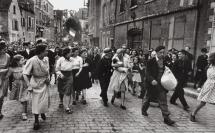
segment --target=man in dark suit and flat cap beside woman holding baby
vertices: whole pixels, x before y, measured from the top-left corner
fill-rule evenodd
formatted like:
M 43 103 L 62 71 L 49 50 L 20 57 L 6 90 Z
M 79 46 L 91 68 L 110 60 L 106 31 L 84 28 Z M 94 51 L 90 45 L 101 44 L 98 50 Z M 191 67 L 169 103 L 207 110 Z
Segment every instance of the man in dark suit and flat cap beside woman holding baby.
M 104 102 L 104 106 L 108 106 L 108 97 L 107 91 L 110 83 L 110 78 L 112 76 L 112 49 L 105 48 L 104 56 L 101 58 L 97 68 L 97 75 L 101 86 L 101 94 L 102 100 Z

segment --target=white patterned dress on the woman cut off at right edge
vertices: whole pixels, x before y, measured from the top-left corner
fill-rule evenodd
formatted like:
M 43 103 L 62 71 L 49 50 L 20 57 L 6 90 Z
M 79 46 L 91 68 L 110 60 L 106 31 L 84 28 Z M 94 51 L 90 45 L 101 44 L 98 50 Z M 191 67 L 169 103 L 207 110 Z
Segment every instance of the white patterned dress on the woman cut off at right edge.
M 215 66 L 210 66 L 207 70 L 207 80 L 204 83 L 198 100 L 215 103 Z

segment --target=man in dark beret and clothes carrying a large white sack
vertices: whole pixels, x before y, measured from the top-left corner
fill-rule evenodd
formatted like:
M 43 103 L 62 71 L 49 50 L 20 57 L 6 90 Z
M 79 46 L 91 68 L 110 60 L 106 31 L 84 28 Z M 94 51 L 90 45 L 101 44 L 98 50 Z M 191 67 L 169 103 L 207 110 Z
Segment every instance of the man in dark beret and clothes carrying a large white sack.
M 164 61 L 164 46 L 158 46 L 155 49 L 157 53 L 156 58 L 151 58 L 146 66 L 146 97 L 142 106 L 142 115 L 148 116 L 147 110 L 150 105 L 150 101 L 157 97 L 159 107 L 161 109 L 164 123 L 167 125 L 173 125 L 175 122 L 169 118 L 170 112 L 167 105 L 167 90 L 161 85 L 161 77 L 165 69 Z

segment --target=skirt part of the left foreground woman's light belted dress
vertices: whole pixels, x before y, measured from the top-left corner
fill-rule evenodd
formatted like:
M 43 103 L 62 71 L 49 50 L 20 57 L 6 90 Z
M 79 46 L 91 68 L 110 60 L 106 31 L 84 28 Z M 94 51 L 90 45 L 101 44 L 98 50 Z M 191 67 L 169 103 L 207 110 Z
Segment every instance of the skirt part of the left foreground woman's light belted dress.
M 45 85 L 43 91 L 32 93 L 32 113 L 42 114 L 48 112 L 49 107 L 49 90 Z

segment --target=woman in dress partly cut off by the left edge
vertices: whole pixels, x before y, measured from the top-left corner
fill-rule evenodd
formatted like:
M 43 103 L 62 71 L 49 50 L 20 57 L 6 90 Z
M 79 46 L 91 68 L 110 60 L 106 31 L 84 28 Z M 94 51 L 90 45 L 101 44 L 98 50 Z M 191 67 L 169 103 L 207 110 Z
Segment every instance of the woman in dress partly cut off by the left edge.
M 8 66 L 10 62 L 10 56 L 6 53 L 5 42 L 0 42 L 0 120 L 4 117 L 1 113 L 4 97 L 7 96 L 7 89 L 9 79 L 6 78 L 8 72 Z

